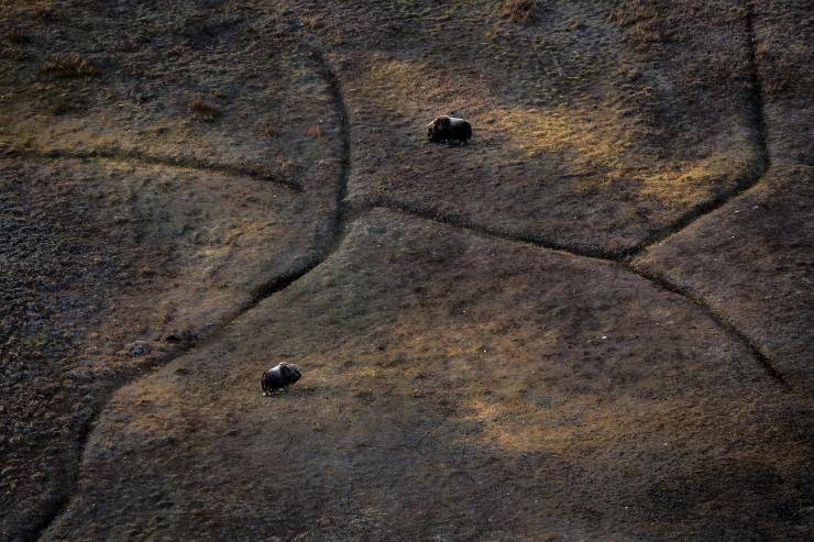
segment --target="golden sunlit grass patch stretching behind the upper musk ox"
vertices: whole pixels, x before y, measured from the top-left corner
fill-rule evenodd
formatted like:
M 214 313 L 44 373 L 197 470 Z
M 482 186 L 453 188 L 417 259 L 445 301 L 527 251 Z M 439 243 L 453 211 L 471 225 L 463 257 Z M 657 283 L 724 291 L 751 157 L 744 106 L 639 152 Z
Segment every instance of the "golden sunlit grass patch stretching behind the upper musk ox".
M 641 79 L 637 71 L 631 74 L 628 80 Z M 484 172 L 509 164 L 540 164 L 553 172 L 550 180 L 558 179 L 561 189 L 574 195 L 610 191 L 622 184 L 642 199 L 688 208 L 737 182 L 758 161 L 756 135 L 740 117 L 729 120 L 728 131 L 701 139 L 686 152 L 648 139 L 651 113 L 631 110 L 627 101 L 618 100 L 612 81 L 606 98 L 598 95 L 531 108 L 491 96 L 485 86 L 468 86 L 462 92 L 457 84 L 465 80 L 464 74 L 426 63 L 374 59 L 353 89 L 388 118 L 415 124 L 417 132 L 435 114 L 463 110 L 474 128 L 473 145 L 479 146 L 472 159 L 481 161 Z M 650 99 L 652 89 L 642 88 Z M 658 158 L 653 150 L 659 150 Z

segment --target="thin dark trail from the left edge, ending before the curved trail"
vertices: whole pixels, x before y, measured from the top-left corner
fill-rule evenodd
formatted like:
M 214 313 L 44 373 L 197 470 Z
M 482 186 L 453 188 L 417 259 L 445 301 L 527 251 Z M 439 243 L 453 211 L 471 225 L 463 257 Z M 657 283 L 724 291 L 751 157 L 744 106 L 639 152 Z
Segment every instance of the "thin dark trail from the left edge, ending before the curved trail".
M 6 150 L 0 148 L 0 156 L 20 157 L 29 159 L 54 159 L 54 158 L 68 158 L 79 161 L 90 159 L 108 159 L 112 162 L 122 162 L 125 164 L 150 164 L 155 166 L 165 167 L 177 167 L 182 169 L 193 169 L 200 173 L 220 173 L 234 177 L 248 177 L 253 180 L 261 180 L 267 182 L 275 182 L 277 185 L 289 188 L 296 192 L 302 191 L 302 186 L 299 182 L 288 180 L 282 177 L 275 177 L 267 172 L 253 168 L 242 168 L 237 166 L 228 166 L 223 164 L 213 164 L 206 161 L 196 158 L 175 158 L 167 156 L 152 156 L 144 154 L 138 150 L 114 150 L 114 148 L 100 148 L 94 151 L 64 151 L 59 148 L 53 148 L 47 151 L 33 151 L 33 150 Z

